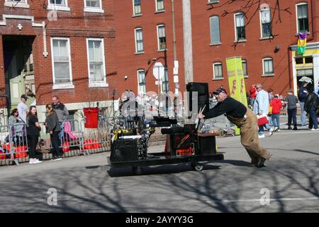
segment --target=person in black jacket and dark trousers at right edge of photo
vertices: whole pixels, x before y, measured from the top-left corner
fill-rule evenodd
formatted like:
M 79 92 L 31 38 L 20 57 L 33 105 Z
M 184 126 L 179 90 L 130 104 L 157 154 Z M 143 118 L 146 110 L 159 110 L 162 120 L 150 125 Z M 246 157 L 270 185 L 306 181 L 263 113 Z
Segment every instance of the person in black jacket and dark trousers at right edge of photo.
M 318 131 L 318 120 L 316 118 L 315 112 L 318 110 L 319 107 L 319 100 L 318 96 L 315 92 L 311 92 L 306 97 L 305 101 L 305 110 L 309 114 L 309 130 Z

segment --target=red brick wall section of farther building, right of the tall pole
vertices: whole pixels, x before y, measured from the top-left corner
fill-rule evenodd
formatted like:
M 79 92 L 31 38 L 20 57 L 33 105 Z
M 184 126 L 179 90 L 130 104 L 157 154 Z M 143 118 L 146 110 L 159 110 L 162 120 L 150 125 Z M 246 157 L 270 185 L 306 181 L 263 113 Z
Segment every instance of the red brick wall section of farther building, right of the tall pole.
M 300 1 L 280 1 L 281 10 L 288 9 L 291 12 L 281 11 L 281 23 L 276 23 L 279 19 L 278 11 L 276 11 L 273 23 L 273 34 L 278 35 L 272 40 L 259 40 L 260 19 L 259 11 L 252 16 L 256 6 L 247 13 L 247 21 L 252 18 L 246 27 L 247 42 L 238 43 L 236 48 L 234 45 L 235 28 L 234 13 L 222 16 L 224 11 L 235 12 L 244 6 L 244 1 L 235 1 L 233 4 L 225 4 L 218 8 L 225 1 L 220 0 L 220 4 L 214 9 L 208 10 L 211 6 L 203 1 L 191 1 L 192 9 L 192 33 L 193 33 L 193 52 L 194 52 L 194 79 L 202 82 L 209 82 L 211 90 L 216 89 L 219 84 L 225 84 L 228 89 L 228 77 L 226 70 L 226 57 L 240 56 L 247 60 L 247 73 L 249 79 L 245 79 L 246 90 L 252 84 L 262 83 L 265 89 L 274 89 L 274 94 L 286 94 L 286 89 L 293 87 L 291 69 L 291 53 L 289 45 L 296 45 L 296 3 Z M 273 17 L 276 0 L 267 1 L 271 7 L 271 15 Z M 307 2 L 307 1 L 306 1 Z M 309 24 L 311 31 L 311 7 L 308 1 Z M 211 16 L 220 16 L 220 40 L 221 45 L 210 46 L 210 28 L 209 18 Z M 197 26 L 201 24 L 201 26 Z M 308 39 L 312 38 L 312 33 Z M 280 46 L 278 52 L 274 52 L 276 45 Z M 274 60 L 274 77 L 262 77 L 262 58 L 273 57 Z M 223 80 L 213 81 L 213 62 L 223 62 Z M 289 74 L 290 77 L 289 77 Z M 289 78 L 291 80 L 289 84 Z M 229 89 L 228 89 L 229 90 Z

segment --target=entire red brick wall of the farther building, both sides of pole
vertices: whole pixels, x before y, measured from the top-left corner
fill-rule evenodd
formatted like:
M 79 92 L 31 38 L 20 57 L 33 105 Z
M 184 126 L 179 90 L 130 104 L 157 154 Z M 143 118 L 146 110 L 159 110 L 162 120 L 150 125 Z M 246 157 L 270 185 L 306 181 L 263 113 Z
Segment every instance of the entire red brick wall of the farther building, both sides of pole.
M 216 89 L 218 85 L 224 84 L 228 89 L 228 77 L 226 71 L 226 57 L 240 56 L 247 60 L 248 79 L 245 79 L 246 89 L 252 84 L 262 83 L 265 89 L 274 89 L 274 94 L 286 94 L 286 89 L 293 87 L 291 52 L 289 45 L 296 45 L 296 4 L 299 2 L 308 2 L 310 35 L 308 40 L 312 40 L 312 13 L 311 2 L 313 1 L 280 1 L 281 23 L 277 22 L 279 13 L 274 15 L 273 34 L 276 34 L 272 40 L 259 40 L 260 22 L 259 11 L 255 16 L 253 6 L 247 13 L 246 23 L 252 17 L 252 21 L 247 25 L 247 42 L 238 43 L 233 47 L 235 40 L 234 12 L 241 8 L 247 1 L 234 1 L 232 4 L 225 4 L 228 1 L 220 0 L 219 4 L 213 4 L 214 9 L 207 4 L 207 0 L 191 1 L 191 23 L 192 23 L 192 43 L 193 43 L 193 62 L 194 62 L 194 82 L 208 82 L 210 90 Z M 159 57 L 162 52 L 157 52 L 157 33 L 156 25 L 165 23 L 167 28 L 167 62 L 172 62 L 172 12 L 171 2 L 165 1 L 165 12 L 155 13 L 155 1 L 141 1 L 142 16 L 133 17 L 132 1 L 114 2 L 114 18 L 116 26 L 116 54 L 118 59 L 118 79 L 119 90 L 133 89 L 137 92 L 138 79 L 136 70 L 148 69 L 147 60 L 152 57 Z M 263 2 L 262 2 L 263 3 Z M 271 6 L 271 15 L 273 17 L 276 0 L 269 0 L 267 3 Z M 318 4 L 318 3 L 317 3 Z M 218 6 L 223 7 L 218 8 Z M 217 6 L 217 7 L 216 7 Z M 313 6 L 315 7 L 315 6 Z M 176 29 L 177 29 L 177 58 L 179 60 L 179 79 L 181 88 L 184 84 L 184 55 L 183 55 L 183 24 L 181 1 L 175 1 L 176 8 Z M 318 8 L 318 6 L 317 6 Z M 288 9 L 290 13 L 283 11 Z M 232 12 L 222 17 L 224 11 Z M 317 10 L 314 10 L 318 12 Z M 220 16 L 220 36 L 221 45 L 210 45 L 210 16 Z M 315 25 L 318 37 L 318 23 Z M 143 40 L 145 54 L 135 55 L 134 28 L 141 27 L 143 30 Z M 318 38 L 312 41 L 318 41 Z M 274 52 L 276 45 L 280 46 L 278 52 Z M 273 57 L 274 59 L 274 77 L 262 77 L 262 58 Z M 213 62 L 223 62 L 223 80 L 213 81 Z M 169 89 L 174 91 L 172 63 L 169 63 Z M 124 80 L 128 75 L 129 79 Z M 152 67 L 147 77 L 147 91 L 157 91 L 155 79 L 152 77 Z

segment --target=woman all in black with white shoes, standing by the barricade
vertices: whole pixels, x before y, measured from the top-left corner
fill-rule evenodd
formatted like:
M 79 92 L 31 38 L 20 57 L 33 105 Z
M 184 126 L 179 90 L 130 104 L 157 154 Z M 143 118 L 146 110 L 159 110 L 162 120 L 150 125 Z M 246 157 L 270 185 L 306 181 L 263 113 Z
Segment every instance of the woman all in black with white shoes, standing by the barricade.
M 28 138 L 28 150 L 29 150 L 29 163 L 38 164 L 42 161 L 35 158 L 35 150 L 38 145 L 41 126 L 37 117 L 37 109 L 35 106 L 30 106 L 28 115 L 26 116 L 27 124 L 27 138 Z

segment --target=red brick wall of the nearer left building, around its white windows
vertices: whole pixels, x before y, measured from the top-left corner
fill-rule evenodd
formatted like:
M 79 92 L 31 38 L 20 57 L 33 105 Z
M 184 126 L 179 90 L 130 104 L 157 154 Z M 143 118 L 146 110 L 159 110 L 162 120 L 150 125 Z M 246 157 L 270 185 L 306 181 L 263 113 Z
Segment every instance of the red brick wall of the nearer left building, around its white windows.
M 44 1 L 47 4 L 47 1 Z M 0 26 L 2 35 L 35 35 L 33 58 L 37 104 L 47 104 L 52 95 L 60 96 L 64 103 L 110 100 L 109 91 L 116 89 L 117 72 L 115 61 L 115 30 L 113 23 L 113 0 L 102 0 L 104 13 L 84 12 L 84 1 L 69 0 L 71 11 L 58 11 L 57 21 L 47 21 L 47 12 L 43 1 L 28 1 L 30 9 L 11 9 L 0 4 L 0 14 L 34 16 L 35 23 L 47 23 L 47 52 L 43 57 L 43 29 L 34 28 L 30 21 L 7 20 L 6 26 Z M 18 31 L 17 23 L 23 25 Z M 74 89 L 52 90 L 51 37 L 68 37 L 70 40 L 72 79 Z M 106 82 L 108 88 L 89 88 L 86 38 L 103 38 L 106 59 Z M 2 49 L 2 47 L 1 47 Z M 3 64 L 3 52 L 0 52 L 0 64 Z M 0 71 L 0 85 L 4 84 L 4 70 Z

